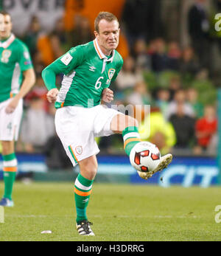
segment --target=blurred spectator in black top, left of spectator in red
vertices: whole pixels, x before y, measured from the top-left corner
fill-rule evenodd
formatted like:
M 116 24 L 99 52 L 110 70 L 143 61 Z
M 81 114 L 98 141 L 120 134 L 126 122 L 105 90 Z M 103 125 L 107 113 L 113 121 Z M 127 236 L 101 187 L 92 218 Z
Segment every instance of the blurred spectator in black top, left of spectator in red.
M 185 113 L 185 108 L 185 103 L 178 102 L 175 113 L 169 117 L 169 122 L 175 129 L 177 140 L 175 148 L 189 150 L 195 145 L 195 119 Z

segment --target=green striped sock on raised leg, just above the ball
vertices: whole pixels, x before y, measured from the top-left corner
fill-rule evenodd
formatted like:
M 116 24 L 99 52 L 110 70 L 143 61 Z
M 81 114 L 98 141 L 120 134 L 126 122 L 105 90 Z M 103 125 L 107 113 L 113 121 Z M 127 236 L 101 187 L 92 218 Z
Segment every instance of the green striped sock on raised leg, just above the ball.
M 130 156 L 132 148 L 138 142 L 141 142 L 138 128 L 136 126 L 128 126 L 124 131 L 122 131 L 122 136 L 124 139 L 124 151 L 127 153 L 127 156 Z

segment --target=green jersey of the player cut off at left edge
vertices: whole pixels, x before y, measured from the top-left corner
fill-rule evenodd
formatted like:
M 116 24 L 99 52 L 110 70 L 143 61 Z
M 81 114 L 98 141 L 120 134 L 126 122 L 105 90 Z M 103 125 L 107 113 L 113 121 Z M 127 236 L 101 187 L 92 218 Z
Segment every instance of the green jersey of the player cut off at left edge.
M 15 35 L 0 41 L 0 103 L 18 94 L 22 72 L 31 68 L 29 50 Z

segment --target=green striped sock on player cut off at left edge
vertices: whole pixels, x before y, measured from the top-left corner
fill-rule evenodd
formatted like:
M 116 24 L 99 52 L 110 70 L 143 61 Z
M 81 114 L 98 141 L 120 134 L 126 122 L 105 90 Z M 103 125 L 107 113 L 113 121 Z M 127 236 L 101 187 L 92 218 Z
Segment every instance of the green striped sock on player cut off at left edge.
M 2 155 L 3 157 L 3 179 L 4 179 L 4 198 L 12 200 L 13 184 L 17 172 L 17 159 L 15 153 Z

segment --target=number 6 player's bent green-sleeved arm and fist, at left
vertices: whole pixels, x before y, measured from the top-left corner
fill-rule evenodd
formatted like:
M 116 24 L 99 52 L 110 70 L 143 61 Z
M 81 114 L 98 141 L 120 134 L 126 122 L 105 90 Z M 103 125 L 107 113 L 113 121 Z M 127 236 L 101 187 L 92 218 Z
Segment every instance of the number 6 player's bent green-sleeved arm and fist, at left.
M 57 99 L 58 89 L 56 86 L 56 75 L 68 75 L 77 66 L 83 62 L 83 49 L 80 47 L 71 48 L 69 52 L 55 60 L 52 64 L 43 69 L 42 78 L 49 90 L 47 99 L 49 103 L 55 103 Z

